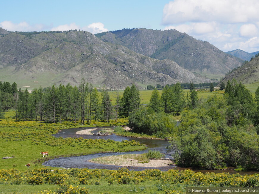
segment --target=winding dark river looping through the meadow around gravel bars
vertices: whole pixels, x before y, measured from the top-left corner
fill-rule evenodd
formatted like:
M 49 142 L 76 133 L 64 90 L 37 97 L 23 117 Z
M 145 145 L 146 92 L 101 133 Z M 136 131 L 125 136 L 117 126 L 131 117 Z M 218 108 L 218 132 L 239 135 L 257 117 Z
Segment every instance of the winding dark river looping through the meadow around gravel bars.
M 96 129 L 91 131 L 91 133 L 97 133 L 98 131 L 101 131 L 103 129 L 113 129 L 114 127 L 91 127 L 92 129 Z M 145 138 L 132 138 L 132 137 L 121 137 L 117 136 L 115 134 L 113 135 L 107 135 L 107 136 L 97 136 L 97 135 L 79 135 L 76 134 L 77 131 L 85 130 L 85 129 L 91 129 L 89 127 L 85 128 L 73 128 L 73 129 L 64 129 L 61 130 L 59 133 L 54 134 L 54 137 L 82 137 L 84 139 L 112 139 L 114 141 L 121 141 L 121 140 L 135 140 L 139 141 L 140 143 L 146 144 L 146 146 L 152 150 L 158 150 L 160 152 L 163 152 L 166 154 L 166 158 L 172 158 L 170 154 L 166 153 L 166 146 L 168 146 L 169 141 L 165 140 L 157 140 L 157 139 L 145 139 Z M 91 163 L 88 162 L 88 160 L 91 160 L 92 158 L 96 157 L 103 157 L 103 156 L 110 156 L 110 155 L 121 155 L 121 154 L 142 154 L 147 152 L 147 150 L 143 151 L 135 151 L 135 152 L 108 152 L 108 153 L 97 153 L 97 154 L 88 154 L 83 156 L 74 156 L 74 157 L 60 157 L 55 158 L 52 160 L 48 160 L 43 163 L 45 166 L 52 166 L 52 167 L 60 167 L 60 168 L 99 168 L 99 169 L 109 169 L 109 170 L 117 170 L 118 168 L 121 168 L 122 166 L 116 166 L 116 165 L 103 165 L 103 164 L 97 164 L 97 163 Z M 234 171 L 233 167 L 228 167 L 227 170 L 207 170 L 207 169 L 197 169 L 197 168 L 181 168 L 178 166 L 163 166 L 163 167 L 134 167 L 129 166 L 126 167 L 129 170 L 135 170 L 135 171 L 142 171 L 145 169 L 159 169 L 161 171 L 168 171 L 169 169 L 178 169 L 178 170 L 185 170 L 185 169 L 191 169 L 193 171 L 199 171 L 199 172 L 228 172 L 230 174 L 236 173 Z M 254 174 L 258 173 L 257 171 L 242 171 L 238 172 L 240 174 Z

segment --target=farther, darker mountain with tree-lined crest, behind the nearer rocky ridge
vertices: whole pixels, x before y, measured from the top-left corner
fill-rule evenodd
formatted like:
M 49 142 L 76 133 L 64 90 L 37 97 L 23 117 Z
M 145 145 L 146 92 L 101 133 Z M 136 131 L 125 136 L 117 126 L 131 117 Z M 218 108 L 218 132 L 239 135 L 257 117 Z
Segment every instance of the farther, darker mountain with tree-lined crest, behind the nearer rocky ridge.
M 96 36 L 155 59 L 173 60 L 191 72 L 224 75 L 242 64 L 242 60 L 209 42 L 196 40 L 177 30 L 122 29 Z

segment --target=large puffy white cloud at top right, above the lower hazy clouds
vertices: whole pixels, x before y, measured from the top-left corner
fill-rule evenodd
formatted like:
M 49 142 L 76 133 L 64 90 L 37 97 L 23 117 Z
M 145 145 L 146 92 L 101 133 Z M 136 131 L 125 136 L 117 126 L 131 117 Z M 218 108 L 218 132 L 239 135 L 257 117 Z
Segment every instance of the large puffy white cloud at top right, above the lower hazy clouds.
M 258 0 L 174 0 L 164 7 L 163 24 L 252 22 L 258 20 L 258 8 Z

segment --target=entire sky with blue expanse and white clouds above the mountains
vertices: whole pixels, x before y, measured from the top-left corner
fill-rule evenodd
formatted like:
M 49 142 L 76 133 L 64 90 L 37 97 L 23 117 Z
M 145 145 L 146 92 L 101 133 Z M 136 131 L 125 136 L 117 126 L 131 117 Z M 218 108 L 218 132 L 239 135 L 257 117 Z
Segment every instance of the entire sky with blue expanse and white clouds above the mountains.
M 259 51 L 258 0 L 8 0 L 0 27 L 8 31 L 123 28 L 176 29 L 220 50 Z

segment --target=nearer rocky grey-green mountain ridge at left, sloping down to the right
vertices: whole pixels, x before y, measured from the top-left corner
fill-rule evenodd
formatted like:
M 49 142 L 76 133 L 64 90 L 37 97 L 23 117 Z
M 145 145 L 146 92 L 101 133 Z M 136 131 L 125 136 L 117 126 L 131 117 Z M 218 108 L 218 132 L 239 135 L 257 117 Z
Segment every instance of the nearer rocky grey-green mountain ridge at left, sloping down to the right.
M 81 78 L 95 86 L 120 88 L 136 83 L 210 82 L 171 60 L 153 59 L 122 45 L 103 42 L 86 31 L 8 32 L 1 29 L 0 76 L 20 86 L 49 86 Z M 0 81 L 1 81 L 0 80 Z M 20 85 L 19 85 L 20 84 Z

